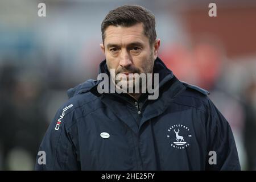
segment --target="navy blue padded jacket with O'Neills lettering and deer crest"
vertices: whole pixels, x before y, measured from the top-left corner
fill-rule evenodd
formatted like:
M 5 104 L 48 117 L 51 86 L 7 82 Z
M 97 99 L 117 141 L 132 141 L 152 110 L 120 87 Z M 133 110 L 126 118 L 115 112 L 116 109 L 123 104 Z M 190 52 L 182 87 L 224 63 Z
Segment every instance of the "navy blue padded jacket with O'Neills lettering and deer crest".
M 69 89 L 39 148 L 46 164 L 38 155 L 35 169 L 240 170 L 232 130 L 208 91 L 177 80 L 159 58 L 154 73 L 156 100 L 99 94 L 97 80 Z

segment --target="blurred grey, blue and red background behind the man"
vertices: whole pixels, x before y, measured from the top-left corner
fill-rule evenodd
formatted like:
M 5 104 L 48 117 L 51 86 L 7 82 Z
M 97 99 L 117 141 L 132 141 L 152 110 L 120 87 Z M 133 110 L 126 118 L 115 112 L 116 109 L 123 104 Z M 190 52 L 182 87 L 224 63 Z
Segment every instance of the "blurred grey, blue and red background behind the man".
M 38 3 L 46 3 L 46 17 Z M 209 17 L 210 2 L 217 17 Z M 243 170 L 256 169 L 256 1 L 1 0 L 0 169 L 32 170 L 66 91 L 96 78 L 101 22 L 137 4 L 156 18 L 159 57 L 210 91 L 232 127 Z

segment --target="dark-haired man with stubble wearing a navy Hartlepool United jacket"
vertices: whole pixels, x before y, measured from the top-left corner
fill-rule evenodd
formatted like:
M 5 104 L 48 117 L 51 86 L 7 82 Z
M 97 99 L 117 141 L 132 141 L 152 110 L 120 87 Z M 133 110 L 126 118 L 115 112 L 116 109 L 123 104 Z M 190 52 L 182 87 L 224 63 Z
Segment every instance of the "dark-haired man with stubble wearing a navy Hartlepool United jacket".
M 154 15 L 121 6 L 101 30 L 104 79 L 68 90 L 35 169 L 240 170 L 232 130 L 208 92 L 179 81 L 157 57 Z

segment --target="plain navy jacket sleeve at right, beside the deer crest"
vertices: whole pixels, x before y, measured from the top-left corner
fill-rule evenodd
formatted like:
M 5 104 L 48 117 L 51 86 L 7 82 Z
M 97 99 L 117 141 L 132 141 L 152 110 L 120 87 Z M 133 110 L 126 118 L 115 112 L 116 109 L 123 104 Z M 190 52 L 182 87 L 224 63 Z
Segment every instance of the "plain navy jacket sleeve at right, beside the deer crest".
M 208 100 L 208 156 L 207 170 L 241 170 L 236 143 L 228 121 Z M 214 160 L 216 155 L 216 160 Z

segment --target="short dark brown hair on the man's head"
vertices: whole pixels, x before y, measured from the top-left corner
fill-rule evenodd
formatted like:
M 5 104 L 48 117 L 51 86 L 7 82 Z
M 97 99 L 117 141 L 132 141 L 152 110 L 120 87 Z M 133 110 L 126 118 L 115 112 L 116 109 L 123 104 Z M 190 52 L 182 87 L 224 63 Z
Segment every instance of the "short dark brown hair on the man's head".
M 152 45 L 156 39 L 155 16 L 146 8 L 138 5 L 124 5 L 109 11 L 101 23 L 102 41 L 105 39 L 105 30 L 109 26 L 131 27 L 143 23 L 144 34 Z

